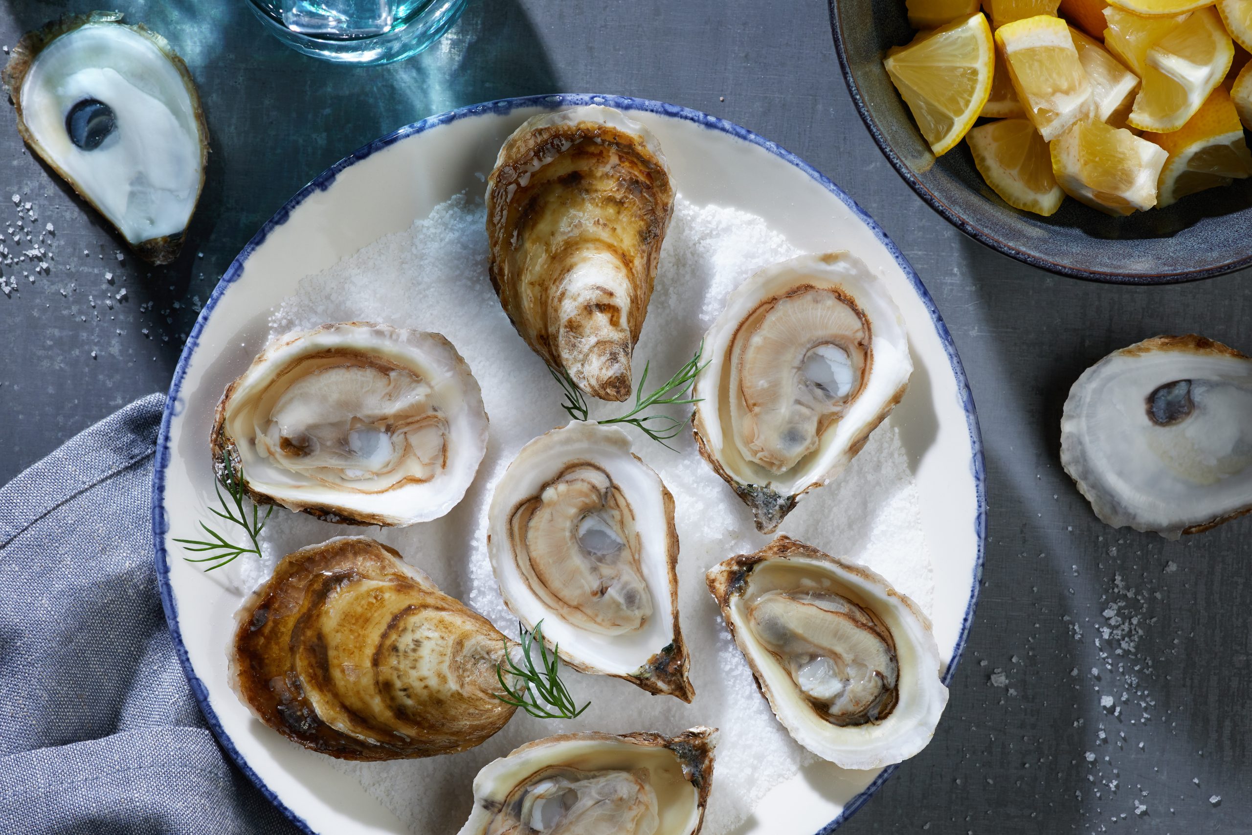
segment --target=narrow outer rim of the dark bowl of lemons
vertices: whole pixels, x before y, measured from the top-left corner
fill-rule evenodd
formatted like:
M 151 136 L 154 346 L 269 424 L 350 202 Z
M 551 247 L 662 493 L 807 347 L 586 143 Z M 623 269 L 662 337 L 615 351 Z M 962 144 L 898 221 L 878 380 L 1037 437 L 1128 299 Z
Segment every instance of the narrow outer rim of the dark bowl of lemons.
M 889 1 L 899 3 L 901 0 Z M 964 215 L 944 203 L 939 195 L 925 187 L 925 184 L 918 178 L 916 173 L 909 168 L 908 163 L 905 163 L 900 155 L 895 153 L 895 149 L 891 148 L 891 144 L 886 140 L 886 136 L 878 126 L 878 121 L 875 121 L 873 114 L 870 114 L 869 106 L 865 104 L 865 98 L 861 95 L 856 79 L 853 76 L 851 65 L 848 63 L 848 55 L 844 48 L 843 21 L 839 15 L 839 3 L 840 0 L 826 0 L 826 6 L 830 11 L 830 35 L 835 41 L 835 55 L 839 58 L 839 69 L 843 71 L 844 81 L 848 85 L 848 94 L 853 100 L 853 106 L 856 108 L 856 113 L 860 115 L 861 121 L 865 123 L 865 128 L 869 130 L 869 135 L 874 139 L 874 144 L 876 144 L 878 149 L 883 151 L 883 156 L 886 156 L 886 161 L 891 164 L 891 168 L 894 168 L 895 173 L 900 175 L 900 179 L 908 183 L 909 188 L 916 192 L 918 197 L 920 197 L 926 205 L 934 209 L 944 220 L 957 227 L 978 243 L 1008 255 L 1009 258 L 1014 258 L 1023 264 L 1038 267 L 1039 269 L 1045 269 L 1049 273 L 1055 273 L 1058 275 L 1078 278 L 1087 282 L 1098 282 L 1102 284 L 1181 284 L 1183 282 L 1198 282 L 1206 278 L 1216 278 L 1217 275 L 1224 275 L 1252 265 L 1252 252 L 1249 252 L 1242 258 L 1202 269 L 1164 273 L 1117 273 L 1083 269 L 1080 267 L 1072 267 L 1060 262 L 1040 258 L 1039 255 L 1014 247 L 1003 238 L 997 238 L 980 227 L 970 223 L 964 218 Z

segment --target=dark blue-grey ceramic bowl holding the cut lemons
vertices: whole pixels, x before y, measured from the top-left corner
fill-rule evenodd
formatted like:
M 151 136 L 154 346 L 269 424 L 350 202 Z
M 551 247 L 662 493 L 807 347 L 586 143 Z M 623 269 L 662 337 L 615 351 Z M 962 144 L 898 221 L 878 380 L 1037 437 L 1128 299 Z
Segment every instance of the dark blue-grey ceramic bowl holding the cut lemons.
M 853 104 L 888 161 L 918 195 L 974 240 L 1042 269 L 1118 284 L 1212 278 L 1252 265 L 1252 179 L 1166 209 L 1112 218 L 1067 199 L 1050 218 L 1014 209 L 960 143 L 935 159 L 883 69 L 914 30 L 904 0 L 828 0 Z

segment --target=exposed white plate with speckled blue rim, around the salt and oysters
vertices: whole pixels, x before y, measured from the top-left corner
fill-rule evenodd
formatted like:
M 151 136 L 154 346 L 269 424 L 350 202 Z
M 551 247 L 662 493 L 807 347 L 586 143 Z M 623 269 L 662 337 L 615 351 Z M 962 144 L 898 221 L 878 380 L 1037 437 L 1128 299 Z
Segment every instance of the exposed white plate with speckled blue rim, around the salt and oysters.
M 805 252 L 849 249 L 886 283 L 904 317 L 915 371 L 893 413 L 915 478 L 934 565 L 934 636 L 949 681 L 969 633 L 985 536 L 978 418 L 952 337 L 894 243 L 834 183 L 774 143 L 676 105 L 606 95 L 550 95 L 462 108 L 401 128 L 347 156 L 293 197 L 244 247 L 205 304 L 174 372 L 153 481 L 162 602 L 179 660 L 222 746 L 309 832 L 404 832 L 404 825 L 328 757 L 274 734 L 227 680 L 224 635 L 239 593 L 184 562 L 175 537 L 195 533 L 214 499 L 208 453 L 213 408 L 268 336 L 269 313 L 319 273 L 408 229 L 453 195 L 482 190 L 500 145 L 527 118 L 606 104 L 646 125 L 674 180 L 696 204 L 759 215 Z M 486 280 L 486 277 L 483 278 Z M 351 531 L 349 531 L 351 532 Z M 696 722 L 692 722 L 696 724 Z M 805 769 L 761 800 L 744 832 L 831 831 L 894 771 Z M 468 787 L 467 787 L 468 791 Z

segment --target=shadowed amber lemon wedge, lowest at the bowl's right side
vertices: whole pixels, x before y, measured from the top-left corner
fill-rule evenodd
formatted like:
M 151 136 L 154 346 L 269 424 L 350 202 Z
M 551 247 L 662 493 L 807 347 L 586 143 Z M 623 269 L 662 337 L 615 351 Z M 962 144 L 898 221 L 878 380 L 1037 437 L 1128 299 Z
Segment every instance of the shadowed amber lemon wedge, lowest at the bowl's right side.
M 1252 154 L 1226 88 L 1209 93 L 1196 115 L 1178 130 L 1146 133 L 1143 138 L 1169 154 L 1157 184 L 1157 207 L 1252 175 Z

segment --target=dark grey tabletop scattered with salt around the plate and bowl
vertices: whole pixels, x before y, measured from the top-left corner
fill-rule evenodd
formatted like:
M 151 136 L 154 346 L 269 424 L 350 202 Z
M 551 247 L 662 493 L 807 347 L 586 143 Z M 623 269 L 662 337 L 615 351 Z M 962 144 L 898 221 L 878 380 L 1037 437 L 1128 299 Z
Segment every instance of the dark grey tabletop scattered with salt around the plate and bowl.
M 118 239 L 23 148 L 0 106 L 0 232 L 19 250 L 6 229 L 19 194 L 38 215 L 25 215 L 34 238 L 45 232 L 48 264 L 0 267 L 19 287 L 0 298 L 0 482 L 168 388 L 200 303 L 240 247 L 366 141 L 511 95 L 687 105 L 795 151 L 881 223 L 934 295 L 979 408 L 990 521 L 969 648 L 931 745 L 843 831 L 1252 831 L 1252 517 L 1177 543 L 1114 531 L 1058 463 L 1069 386 L 1109 351 L 1187 332 L 1252 351 L 1252 273 L 1104 287 L 969 240 L 870 141 L 824 0 L 471 0 L 432 50 L 369 69 L 287 50 L 243 0 L 115 5 L 190 65 L 212 134 L 208 184 L 178 263 L 118 260 Z M 91 8 L 8 0 L 0 44 Z

